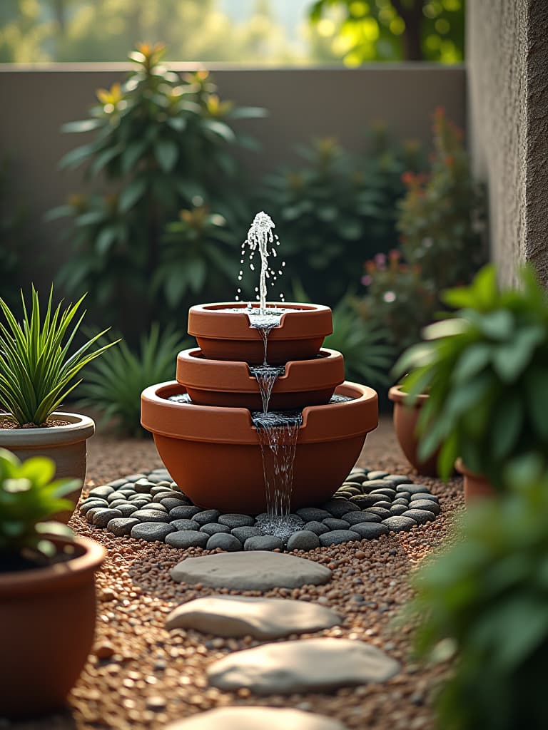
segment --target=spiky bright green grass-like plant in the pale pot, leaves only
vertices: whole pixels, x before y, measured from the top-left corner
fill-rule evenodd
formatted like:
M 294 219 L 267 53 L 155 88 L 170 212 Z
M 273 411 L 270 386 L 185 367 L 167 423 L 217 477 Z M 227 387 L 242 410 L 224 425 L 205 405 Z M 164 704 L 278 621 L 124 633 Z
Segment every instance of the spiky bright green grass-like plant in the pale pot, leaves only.
M 69 355 L 85 315 L 79 312 L 84 296 L 64 310 L 61 300 L 54 310 L 52 286 L 42 318 L 33 286 L 29 307 L 21 292 L 23 323 L 0 299 L 0 311 L 6 320 L 5 324 L 0 322 L 0 404 L 19 426 L 43 426 L 81 383 L 75 378 L 83 367 L 115 345 L 110 342 L 91 349 L 104 330 Z

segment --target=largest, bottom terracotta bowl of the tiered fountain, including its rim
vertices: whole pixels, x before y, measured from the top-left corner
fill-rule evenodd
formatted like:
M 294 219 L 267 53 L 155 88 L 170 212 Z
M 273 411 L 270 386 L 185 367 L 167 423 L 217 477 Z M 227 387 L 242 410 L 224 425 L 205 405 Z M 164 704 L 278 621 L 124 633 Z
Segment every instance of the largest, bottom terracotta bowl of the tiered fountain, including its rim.
M 170 475 L 199 507 L 264 512 L 261 448 L 251 412 L 168 400 L 185 392 L 170 382 L 151 385 L 141 396 L 142 426 L 153 433 Z M 356 463 L 365 436 L 377 426 L 376 391 L 346 382 L 335 393 L 352 400 L 302 410 L 292 510 L 330 499 Z

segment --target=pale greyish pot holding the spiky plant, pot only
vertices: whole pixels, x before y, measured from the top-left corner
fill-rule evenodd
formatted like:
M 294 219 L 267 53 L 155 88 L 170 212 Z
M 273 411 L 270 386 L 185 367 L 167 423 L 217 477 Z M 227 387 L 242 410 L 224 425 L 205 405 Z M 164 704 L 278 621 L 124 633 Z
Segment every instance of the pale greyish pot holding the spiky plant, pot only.
M 0 419 L 10 418 L 0 413 Z M 56 478 L 69 477 L 85 480 L 87 439 L 94 435 L 95 423 L 91 418 L 77 413 L 55 412 L 51 418 L 69 421 L 68 426 L 51 426 L 44 429 L 0 429 L 0 447 L 9 449 L 24 461 L 31 456 L 48 456 L 56 462 Z M 82 487 L 66 496 L 76 507 Z M 74 511 L 74 510 L 72 510 Z M 72 512 L 62 512 L 53 519 L 68 522 Z

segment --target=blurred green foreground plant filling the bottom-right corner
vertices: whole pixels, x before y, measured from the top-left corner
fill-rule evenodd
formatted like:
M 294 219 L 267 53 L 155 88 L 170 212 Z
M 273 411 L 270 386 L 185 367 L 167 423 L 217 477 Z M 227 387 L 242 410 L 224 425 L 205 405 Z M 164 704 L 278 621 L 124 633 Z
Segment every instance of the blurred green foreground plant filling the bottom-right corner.
M 453 660 L 439 730 L 548 727 L 548 480 L 539 471 L 529 464 L 509 495 L 468 507 L 449 549 L 413 578 L 406 619 L 416 650 L 430 663 Z

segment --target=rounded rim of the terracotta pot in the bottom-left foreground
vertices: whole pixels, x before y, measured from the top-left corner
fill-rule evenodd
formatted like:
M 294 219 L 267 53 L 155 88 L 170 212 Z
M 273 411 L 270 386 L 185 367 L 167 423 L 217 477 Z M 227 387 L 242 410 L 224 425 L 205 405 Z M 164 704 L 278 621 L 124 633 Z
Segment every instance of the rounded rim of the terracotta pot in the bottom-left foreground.
M 75 539 L 53 537 L 52 542 L 56 545 L 74 544 L 83 552 L 54 565 L 0 572 L 0 597 L 3 600 L 37 593 L 51 593 L 66 585 L 85 583 L 89 575 L 93 575 L 107 557 L 104 547 L 89 537 L 77 536 Z

